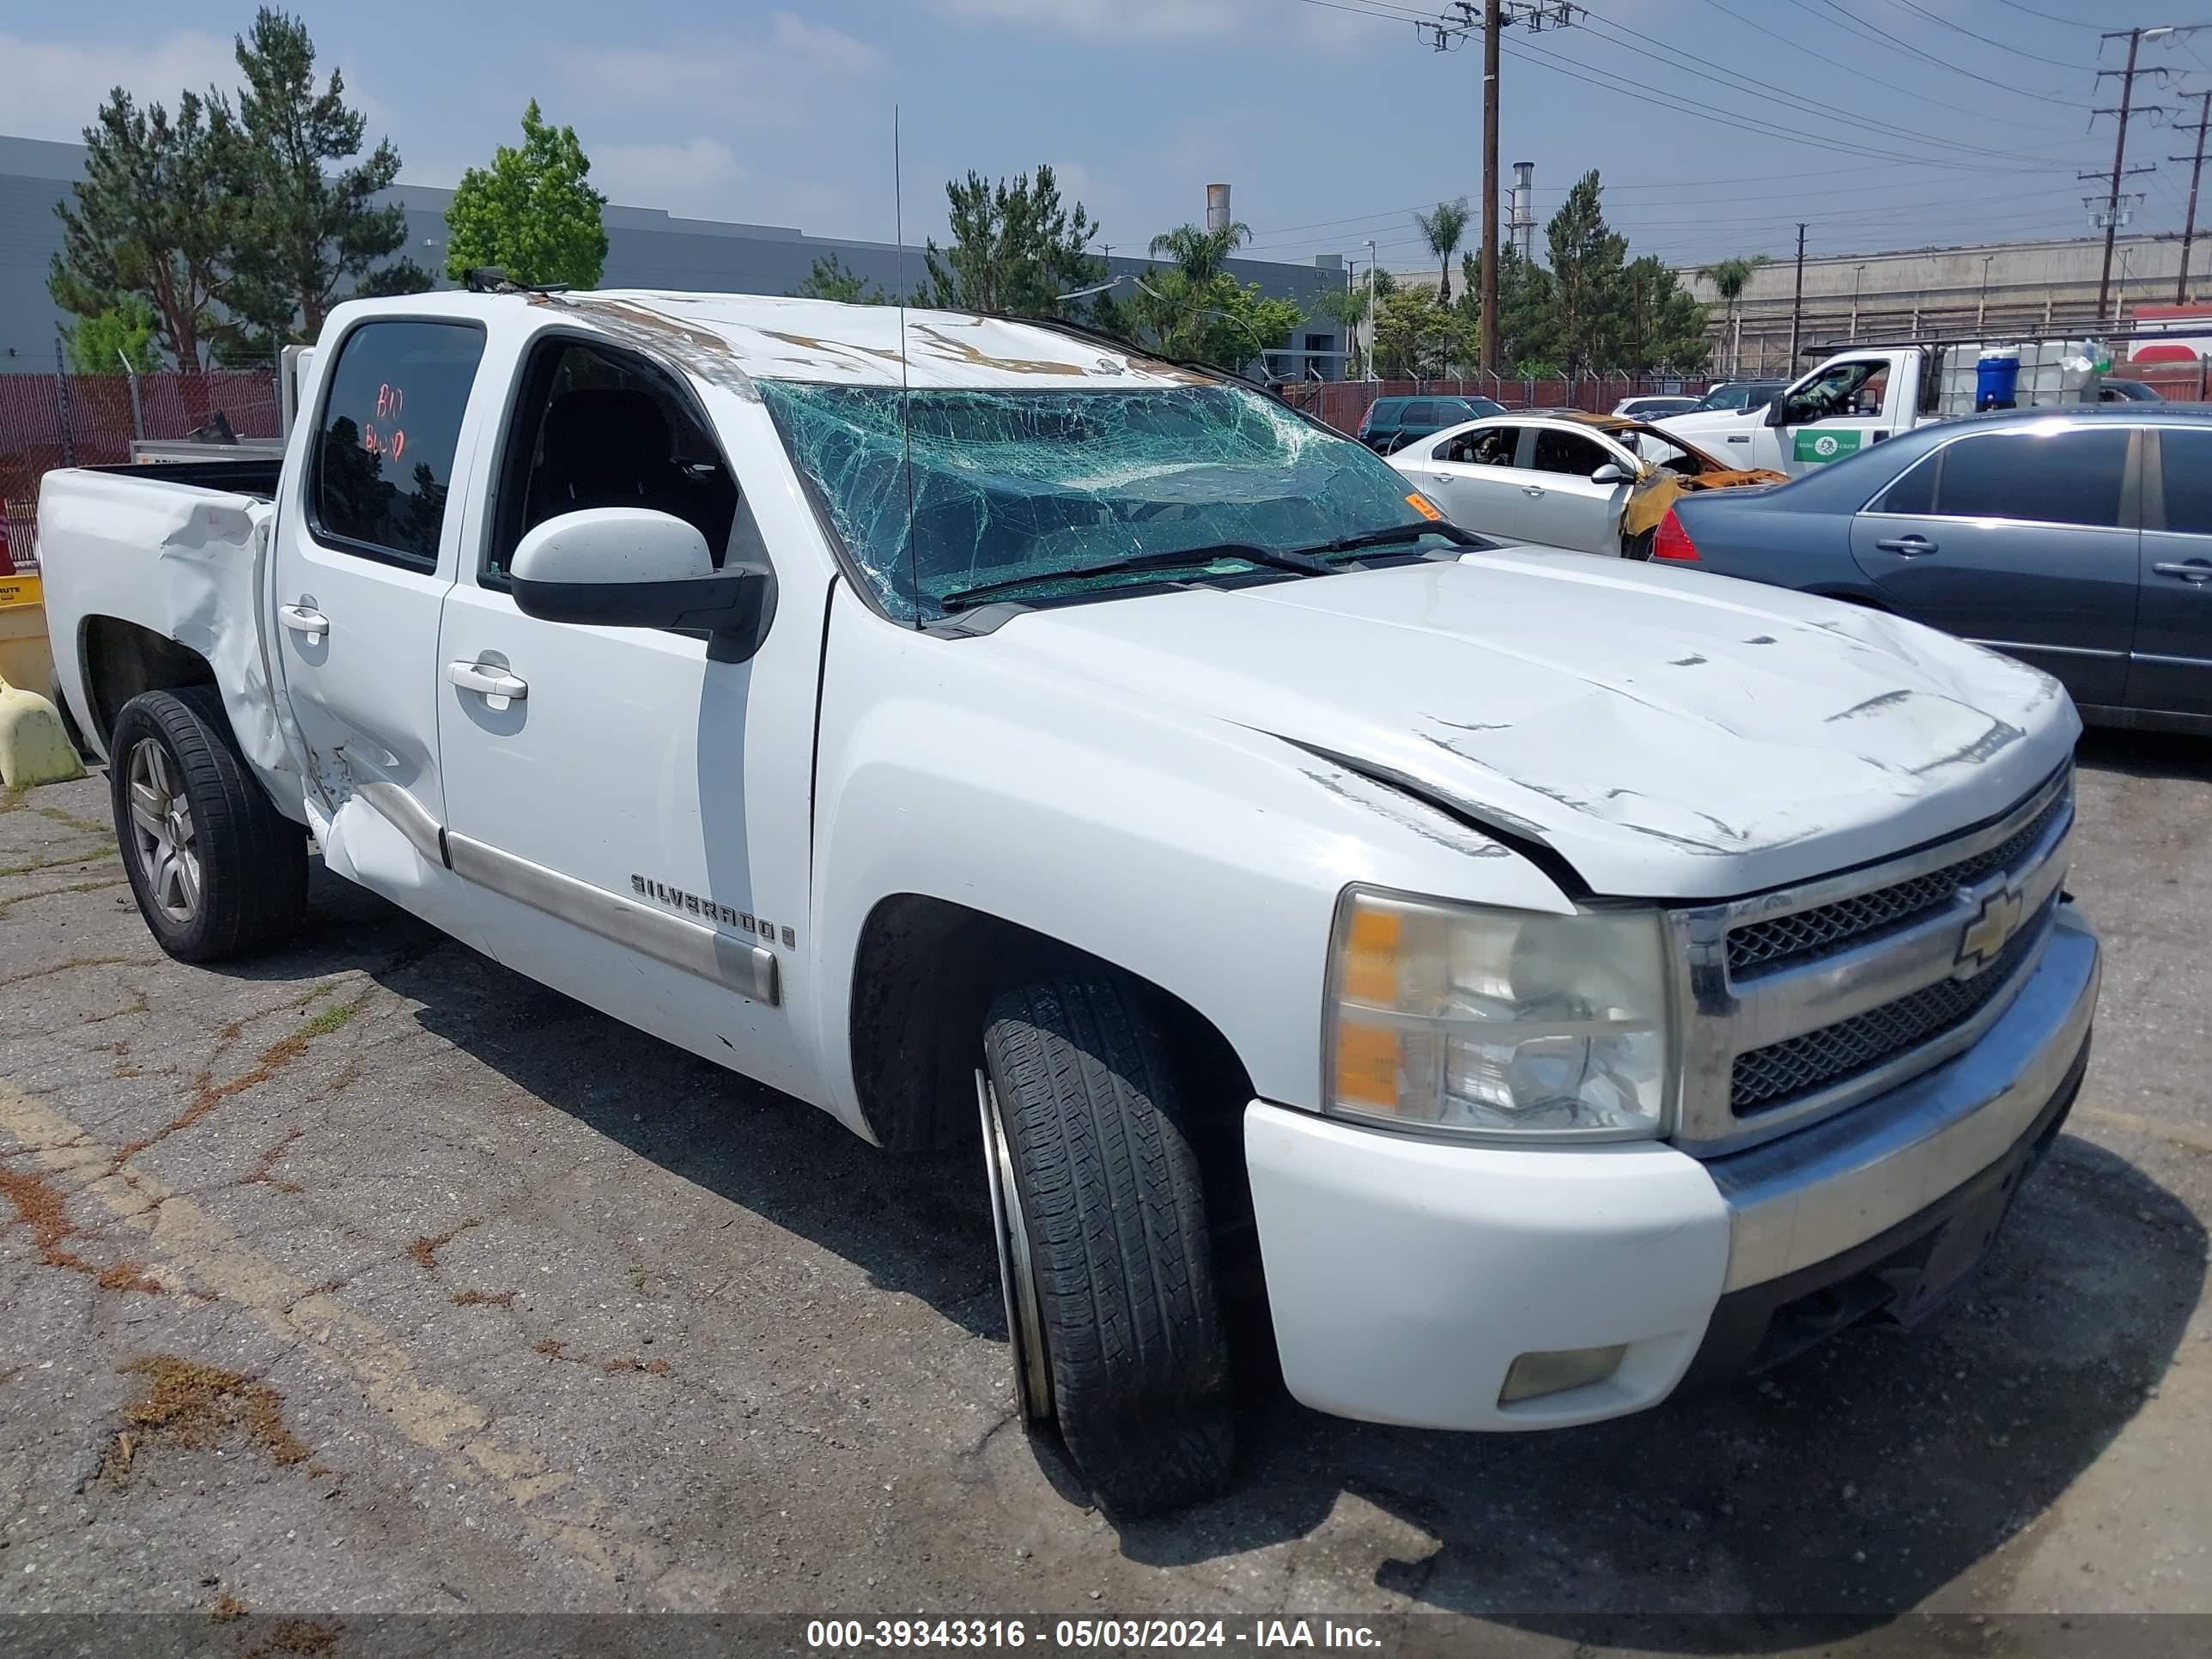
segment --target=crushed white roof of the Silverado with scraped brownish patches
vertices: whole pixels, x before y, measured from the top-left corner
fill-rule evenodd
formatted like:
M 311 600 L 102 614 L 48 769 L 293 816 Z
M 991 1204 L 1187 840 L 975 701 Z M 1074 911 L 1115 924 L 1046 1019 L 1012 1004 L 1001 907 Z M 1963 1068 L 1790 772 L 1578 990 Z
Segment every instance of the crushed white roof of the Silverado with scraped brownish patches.
M 757 380 L 878 387 L 1110 392 L 1208 380 L 1106 341 L 973 312 L 655 290 L 533 294 L 531 303 L 573 310 L 577 321 L 653 345 L 708 380 L 732 367 Z

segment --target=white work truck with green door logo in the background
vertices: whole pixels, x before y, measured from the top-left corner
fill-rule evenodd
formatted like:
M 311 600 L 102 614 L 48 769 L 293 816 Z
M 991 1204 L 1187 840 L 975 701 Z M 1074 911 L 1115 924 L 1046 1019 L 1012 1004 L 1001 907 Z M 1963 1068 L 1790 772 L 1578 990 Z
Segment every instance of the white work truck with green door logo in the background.
M 1763 409 L 1705 409 L 1652 425 L 1732 467 L 1798 478 L 1927 420 L 1973 414 L 1986 349 L 2017 352 L 2013 407 L 2097 403 L 2108 365 L 2099 341 L 1905 341 L 1836 352 Z

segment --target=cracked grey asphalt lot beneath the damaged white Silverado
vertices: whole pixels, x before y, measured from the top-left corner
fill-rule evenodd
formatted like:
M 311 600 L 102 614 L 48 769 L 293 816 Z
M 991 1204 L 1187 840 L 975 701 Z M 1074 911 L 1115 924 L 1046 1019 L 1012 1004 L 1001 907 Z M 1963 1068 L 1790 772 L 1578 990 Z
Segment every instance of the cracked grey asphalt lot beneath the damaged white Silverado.
M 104 781 L 35 790 L 0 812 L 0 1613 L 1429 1610 L 1564 1650 L 1608 1613 L 2212 1610 L 2208 807 L 2212 743 L 2084 745 L 2095 1062 L 1931 1325 L 1524 1438 L 1256 1383 L 1239 1489 L 1115 1528 L 1011 1420 L 964 1157 L 321 872 L 292 949 L 179 967 Z

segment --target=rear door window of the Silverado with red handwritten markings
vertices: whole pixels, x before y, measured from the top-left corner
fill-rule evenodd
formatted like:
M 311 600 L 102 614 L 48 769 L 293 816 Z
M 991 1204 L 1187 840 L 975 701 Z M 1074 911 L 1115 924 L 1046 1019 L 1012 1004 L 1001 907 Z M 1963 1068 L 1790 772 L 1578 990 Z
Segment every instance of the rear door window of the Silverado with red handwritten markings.
M 469 323 L 363 323 L 338 347 L 307 482 L 316 535 L 349 553 L 438 562 L 453 451 L 484 332 Z

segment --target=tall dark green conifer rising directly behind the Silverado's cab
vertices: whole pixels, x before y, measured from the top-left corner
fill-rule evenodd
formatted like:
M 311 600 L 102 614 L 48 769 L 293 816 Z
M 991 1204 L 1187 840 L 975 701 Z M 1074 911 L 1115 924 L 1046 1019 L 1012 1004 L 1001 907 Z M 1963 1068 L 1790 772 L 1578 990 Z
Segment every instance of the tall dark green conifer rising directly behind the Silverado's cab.
M 407 246 L 405 208 L 376 204 L 400 153 L 378 139 L 363 155 L 367 117 L 347 108 L 341 71 L 316 86 L 307 24 L 263 7 L 237 58 L 246 84 L 226 144 L 239 201 L 226 305 L 265 361 L 274 341 L 316 338 L 330 307 L 372 276 L 372 292 L 394 294 L 429 288 L 429 274 L 405 257 L 385 263 Z

